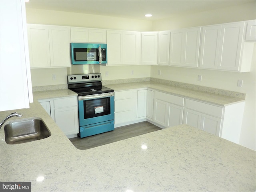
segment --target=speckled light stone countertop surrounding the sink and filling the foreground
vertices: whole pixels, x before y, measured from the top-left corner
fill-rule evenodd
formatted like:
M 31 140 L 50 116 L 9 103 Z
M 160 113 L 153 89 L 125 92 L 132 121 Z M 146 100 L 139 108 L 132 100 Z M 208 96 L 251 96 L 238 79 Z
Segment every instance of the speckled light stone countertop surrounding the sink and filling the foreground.
M 29 109 L 0 112 L 0 119 L 11 112 L 22 113 L 21 118 L 40 117 L 52 135 L 10 145 L 2 127 L 1 182 L 32 182 L 33 192 L 256 190 L 253 150 L 187 125 L 78 150 L 36 101 L 76 94 L 66 89 L 33 94 Z M 43 181 L 36 180 L 40 176 Z

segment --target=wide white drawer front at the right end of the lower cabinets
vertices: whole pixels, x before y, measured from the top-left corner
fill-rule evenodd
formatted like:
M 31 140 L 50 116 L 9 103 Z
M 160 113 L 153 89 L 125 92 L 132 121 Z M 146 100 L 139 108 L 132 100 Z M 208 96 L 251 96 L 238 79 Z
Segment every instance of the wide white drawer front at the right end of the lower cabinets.
M 186 99 L 185 107 L 220 118 L 223 116 L 223 107 L 218 107 L 203 102 Z

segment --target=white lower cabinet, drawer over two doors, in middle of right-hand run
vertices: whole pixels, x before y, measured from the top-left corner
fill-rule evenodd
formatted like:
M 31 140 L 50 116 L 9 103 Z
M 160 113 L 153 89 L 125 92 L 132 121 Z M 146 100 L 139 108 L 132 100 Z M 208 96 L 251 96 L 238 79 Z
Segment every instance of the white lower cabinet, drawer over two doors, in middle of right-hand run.
M 162 128 L 182 124 L 184 98 L 156 91 L 153 121 Z

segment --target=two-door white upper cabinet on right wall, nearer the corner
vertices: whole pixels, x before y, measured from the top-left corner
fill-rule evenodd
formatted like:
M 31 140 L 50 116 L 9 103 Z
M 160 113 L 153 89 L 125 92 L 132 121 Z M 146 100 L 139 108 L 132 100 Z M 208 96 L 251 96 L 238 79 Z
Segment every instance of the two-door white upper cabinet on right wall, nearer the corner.
M 198 67 L 201 28 L 171 31 L 170 65 Z

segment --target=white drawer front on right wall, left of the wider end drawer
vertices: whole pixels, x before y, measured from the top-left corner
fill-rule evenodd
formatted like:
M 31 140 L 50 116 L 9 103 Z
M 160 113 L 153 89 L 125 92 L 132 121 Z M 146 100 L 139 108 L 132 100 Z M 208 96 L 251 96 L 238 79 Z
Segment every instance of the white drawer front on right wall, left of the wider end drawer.
M 165 101 L 165 102 L 168 102 L 168 103 L 184 106 L 184 98 L 183 97 L 156 91 L 155 98 Z

